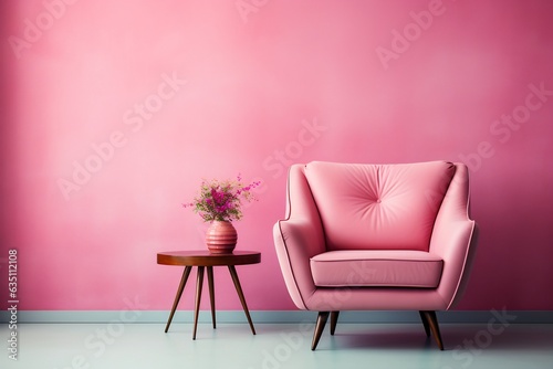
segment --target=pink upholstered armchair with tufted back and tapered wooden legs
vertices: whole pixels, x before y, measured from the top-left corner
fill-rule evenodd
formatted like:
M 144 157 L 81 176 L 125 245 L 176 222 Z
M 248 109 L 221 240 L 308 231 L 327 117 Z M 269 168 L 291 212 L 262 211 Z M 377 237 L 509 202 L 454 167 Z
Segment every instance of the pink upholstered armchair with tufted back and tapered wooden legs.
M 341 310 L 418 310 L 444 349 L 436 310 L 459 302 L 477 243 L 465 165 L 293 165 L 286 198 L 274 244 L 292 301 L 319 312 L 312 350 Z

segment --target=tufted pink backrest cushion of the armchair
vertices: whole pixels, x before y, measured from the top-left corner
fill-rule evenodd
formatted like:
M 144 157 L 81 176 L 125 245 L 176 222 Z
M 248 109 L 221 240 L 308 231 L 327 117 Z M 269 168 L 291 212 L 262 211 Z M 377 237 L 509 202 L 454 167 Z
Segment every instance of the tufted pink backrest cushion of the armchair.
M 448 161 L 313 161 L 304 170 L 328 251 L 428 251 L 436 215 L 455 171 L 456 166 Z

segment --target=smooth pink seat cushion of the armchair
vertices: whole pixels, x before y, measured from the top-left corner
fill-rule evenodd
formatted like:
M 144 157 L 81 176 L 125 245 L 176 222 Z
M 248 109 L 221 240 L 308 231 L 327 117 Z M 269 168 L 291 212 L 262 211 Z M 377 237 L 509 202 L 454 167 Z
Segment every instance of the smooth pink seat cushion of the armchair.
M 310 261 L 319 287 L 436 288 L 444 261 L 426 251 L 341 250 Z

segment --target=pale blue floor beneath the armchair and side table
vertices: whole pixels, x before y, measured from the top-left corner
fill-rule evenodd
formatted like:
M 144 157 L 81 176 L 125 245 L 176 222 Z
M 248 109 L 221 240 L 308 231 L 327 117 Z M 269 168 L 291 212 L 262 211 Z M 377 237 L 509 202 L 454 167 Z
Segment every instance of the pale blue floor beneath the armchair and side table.
M 553 368 L 553 325 L 441 324 L 446 350 L 419 324 L 340 324 L 311 351 L 312 324 L 21 324 L 18 360 L 0 368 Z M 503 329 L 501 329 L 503 328 Z M 4 347 L 10 331 L 0 328 Z

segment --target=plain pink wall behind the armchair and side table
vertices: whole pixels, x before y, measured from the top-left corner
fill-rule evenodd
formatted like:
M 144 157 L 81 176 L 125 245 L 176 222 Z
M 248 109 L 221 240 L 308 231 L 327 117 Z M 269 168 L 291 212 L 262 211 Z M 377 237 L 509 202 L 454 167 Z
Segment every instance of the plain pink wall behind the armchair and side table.
M 237 223 L 263 259 L 239 267 L 250 308 L 294 309 L 271 229 L 285 168 L 314 159 L 468 162 L 482 234 L 459 308 L 553 309 L 553 2 L 0 7 L 0 259 L 7 280 L 19 252 L 20 309 L 168 309 L 181 271 L 156 253 L 204 247 L 180 203 L 238 172 L 263 181 Z M 240 309 L 227 274 L 218 308 Z

